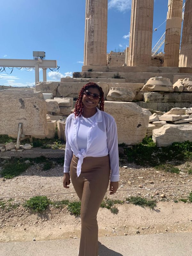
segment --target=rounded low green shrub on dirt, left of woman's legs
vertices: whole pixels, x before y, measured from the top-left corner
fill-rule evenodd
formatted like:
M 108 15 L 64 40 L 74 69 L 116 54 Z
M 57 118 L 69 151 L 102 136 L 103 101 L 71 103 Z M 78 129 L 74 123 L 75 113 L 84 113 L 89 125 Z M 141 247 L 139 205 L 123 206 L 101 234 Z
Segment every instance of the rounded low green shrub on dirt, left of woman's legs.
M 31 209 L 34 212 L 42 212 L 47 209 L 51 201 L 47 196 L 33 196 L 27 200 L 24 207 Z

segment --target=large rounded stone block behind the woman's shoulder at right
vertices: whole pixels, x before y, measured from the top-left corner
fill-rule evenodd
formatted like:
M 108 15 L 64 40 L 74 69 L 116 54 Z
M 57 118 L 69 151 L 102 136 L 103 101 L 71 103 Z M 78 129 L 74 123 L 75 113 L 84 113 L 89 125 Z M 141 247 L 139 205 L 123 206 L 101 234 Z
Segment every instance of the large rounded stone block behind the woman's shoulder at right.
M 149 117 L 136 103 L 105 101 L 104 110 L 115 118 L 119 144 L 134 145 L 143 140 Z

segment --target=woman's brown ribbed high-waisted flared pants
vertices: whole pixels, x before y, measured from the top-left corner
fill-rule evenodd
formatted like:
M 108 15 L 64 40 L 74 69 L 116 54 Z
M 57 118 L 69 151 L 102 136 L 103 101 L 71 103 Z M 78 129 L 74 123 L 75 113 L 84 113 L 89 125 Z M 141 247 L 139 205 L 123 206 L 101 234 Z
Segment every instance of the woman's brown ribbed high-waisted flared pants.
M 109 156 L 85 157 L 77 177 L 78 157 L 72 157 L 70 177 L 81 200 L 81 239 L 79 256 L 98 256 L 97 213 L 108 188 Z

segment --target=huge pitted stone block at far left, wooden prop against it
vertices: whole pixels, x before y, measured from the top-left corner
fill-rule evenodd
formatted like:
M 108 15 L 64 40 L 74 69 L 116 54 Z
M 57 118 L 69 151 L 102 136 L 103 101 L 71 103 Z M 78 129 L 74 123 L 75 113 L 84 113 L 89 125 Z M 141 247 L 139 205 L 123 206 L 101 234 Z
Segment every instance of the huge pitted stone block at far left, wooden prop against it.
M 0 109 L 0 134 L 18 134 L 19 123 L 24 135 L 48 134 L 46 101 L 41 92 L 1 90 Z

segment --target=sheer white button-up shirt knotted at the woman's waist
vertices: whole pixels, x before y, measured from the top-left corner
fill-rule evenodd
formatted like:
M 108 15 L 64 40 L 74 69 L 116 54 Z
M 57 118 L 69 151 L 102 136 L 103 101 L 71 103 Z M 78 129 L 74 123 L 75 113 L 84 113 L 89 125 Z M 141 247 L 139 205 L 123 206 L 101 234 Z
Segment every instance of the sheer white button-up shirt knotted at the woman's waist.
M 87 148 L 78 150 L 77 131 L 79 117 L 75 114 L 68 116 L 65 126 L 66 148 L 64 172 L 69 172 L 73 154 L 79 158 L 77 163 L 77 176 L 81 173 L 81 165 L 86 156 L 100 157 L 109 155 L 111 175 L 110 181 L 119 180 L 119 154 L 117 141 L 117 127 L 113 116 L 97 108 L 95 122 L 87 134 Z

